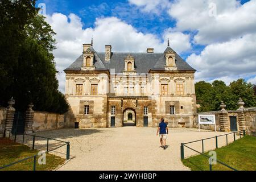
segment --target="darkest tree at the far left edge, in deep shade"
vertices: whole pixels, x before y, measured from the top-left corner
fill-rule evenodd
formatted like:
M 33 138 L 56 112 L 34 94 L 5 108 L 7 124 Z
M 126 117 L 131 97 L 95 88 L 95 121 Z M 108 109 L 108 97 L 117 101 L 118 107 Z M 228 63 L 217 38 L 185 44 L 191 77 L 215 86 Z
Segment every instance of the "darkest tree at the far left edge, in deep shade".
M 34 0 L 0 0 L 0 105 L 6 106 L 13 94 L 14 69 L 26 39 L 24 26 L 36 12 Z

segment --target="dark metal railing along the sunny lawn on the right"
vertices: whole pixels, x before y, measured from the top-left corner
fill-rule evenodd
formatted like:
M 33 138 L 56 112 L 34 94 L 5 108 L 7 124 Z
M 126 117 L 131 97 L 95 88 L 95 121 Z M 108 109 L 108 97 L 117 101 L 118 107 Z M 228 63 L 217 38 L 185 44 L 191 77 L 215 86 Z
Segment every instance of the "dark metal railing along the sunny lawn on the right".
M 215 140 L 216 140 L 216 142 L 215 142 L 216 148 L 215 148 L 215 149 L 217 149 L 217 148 L 218 148 L 218 137 L 226 136 L 226 146 L 228 146 L 228 144 L 229 144 L 229 143 L 228 143 L 228 135 L 232 135 L 232 134 L 233 134 L 233 136 L 234 136 L 234 142 L 235 142 L 235 141 L 236 141 L 236 133 L 239 133 L 240 139 L 241 139 L 241 136 L 242 136 L 242 135 L 243 135 L 243 136 L 246 135 L 245 130 L 243 130 L 243 132 L 237 131 L 237 132 L 233 132 L 233 133 L 229 133 L 229 134 L 218 135 L 218 136 L 216 136 L 216 137 L 204 138 L 204 139 L 195 140 L 195 141 L 192 141 L 192 142 L 181 143 L 181 144 L 180 144 L 180 158 L 181 158 L 181 160 L 185 159 L 185 158 L 184 158 L 184 147 L 187 147 L 187 148 L 189 148 L 190 150 L 195 151 L 195 152 L 197 152 L 198 154 L 203 155 L 203 156 L 205 156 L 206 158 L 210 159 L 211 156 L 208 156 L 208 155 L 205 155 L 205 154 L 204 154 L 204 152 L 205 152 L 205 151 L 204 151 L 204 140 L 208 140 L 208 139 L 213 139 L 213 138 L 215 138 Z M 202 142 L 202 152 L 199 152 L 199 151 L 197 151 L 197 150 L 195 150 L 195 149 L 193 149 L 193 148 L 191 148 L 191 147 L 186 146 L 186 144 L 195 143 L 195 142 L 200 142 L 200 141 Z M 223 166 L 226 166 L 226 167 L 228 167 L 228 168 L 230 168 L 230 169 L 232 169 L 232 170 L 234 170 L 234 171 L 237 171 L 237 169 L 235 169 L 235 168 L 233 168 L 233 167 L 230 167 L 230 166 L 228 166 L 228 164 L 225 164 L 225 163 L 223 163 L 223 162 L 220 162 L 219 160 L 216 160 L 216 162 L 217 162 L 217 163 L 220 163 L 220 164 L 222 164 Z M 210 163 L 209 163 L 209 169 L 210 169 L 210 171 L 212 171 L 212 164 L 210 164 Z

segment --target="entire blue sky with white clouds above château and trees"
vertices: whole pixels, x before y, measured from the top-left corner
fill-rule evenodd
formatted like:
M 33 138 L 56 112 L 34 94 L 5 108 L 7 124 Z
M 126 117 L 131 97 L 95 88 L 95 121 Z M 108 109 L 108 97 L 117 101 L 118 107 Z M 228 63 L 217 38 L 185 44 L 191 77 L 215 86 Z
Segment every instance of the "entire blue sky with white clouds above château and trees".
M 40 4 L 41 3 L 41 4 Z M 196 80 L 237 78 L 256 84 L 256 0 L 38 0 L 56 35 L 60 90 L 67 68 L 94 40 L 104 52 L 163 52 L 171 47 L 193 68 Z

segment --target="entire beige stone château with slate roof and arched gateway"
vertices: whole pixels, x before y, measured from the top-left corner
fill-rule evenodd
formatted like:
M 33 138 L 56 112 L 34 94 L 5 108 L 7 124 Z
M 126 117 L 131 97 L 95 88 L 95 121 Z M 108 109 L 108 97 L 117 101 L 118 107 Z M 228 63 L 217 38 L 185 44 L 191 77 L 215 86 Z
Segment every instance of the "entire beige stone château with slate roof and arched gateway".
M 84 44 L 65 73 L 69 127 L 122 127 L 127 110 L 137 127 L 156 127 L 161 118 L 170 127 L 193 127 L 195 69 L 170 47 L 164 53 L 113 53 L 106 46 L 97 53 Z

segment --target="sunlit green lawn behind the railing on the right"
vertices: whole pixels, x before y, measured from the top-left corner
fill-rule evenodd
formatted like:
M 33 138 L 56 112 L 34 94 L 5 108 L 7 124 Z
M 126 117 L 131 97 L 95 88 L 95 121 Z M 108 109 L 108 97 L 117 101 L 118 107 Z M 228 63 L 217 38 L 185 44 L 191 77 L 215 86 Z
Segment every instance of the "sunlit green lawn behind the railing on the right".
M 240 171 L 256 171 L 256 137 L 246 136 L 229 146 L 218 148 L 217 160 Z M 209 152 L 205 153 L 206 155 Z M 209 162 L 205 156 L 197 155 L 184 159 L 183 164 L 192 171 L 209 171 Z M 231 170 L 221 164 L 213 165 L 213 171 Z

